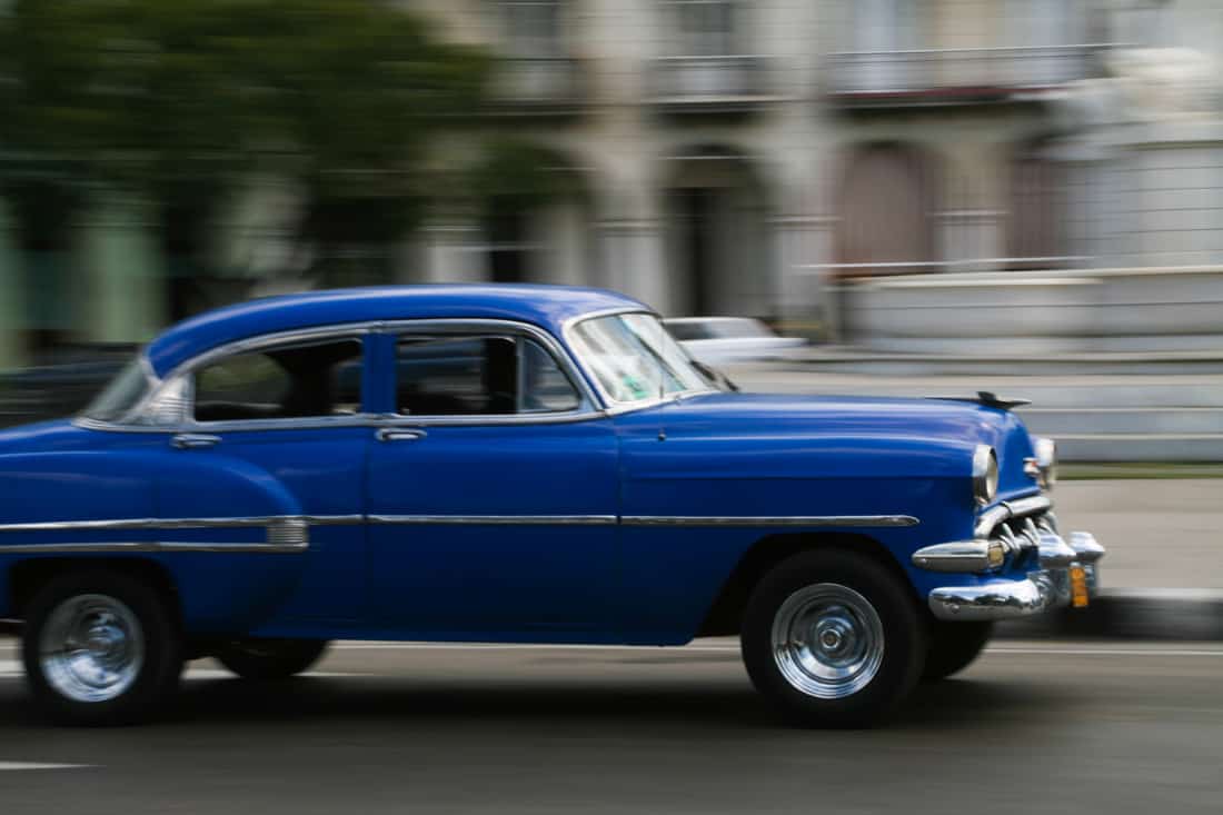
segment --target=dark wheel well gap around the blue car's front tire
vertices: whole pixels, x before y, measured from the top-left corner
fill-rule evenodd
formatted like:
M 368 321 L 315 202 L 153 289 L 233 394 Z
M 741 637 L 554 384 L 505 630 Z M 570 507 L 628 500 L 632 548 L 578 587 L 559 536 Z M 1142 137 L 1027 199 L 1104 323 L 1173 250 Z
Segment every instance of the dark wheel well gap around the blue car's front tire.
M 896 576 L 904 579 L 909 585 L 904 569 L 896 559 L 888 552 L 887 547 L 867 535 L 849 535 L 843 532 L 830 534 L 800 534 L 800 535 L 769 535 L 752 545 L 744 557 L 739 559 L 735 570 L 726 578 L 722 591 L 709 607 L 709 612 L 701 624 L 697 636 L 729 636 L 739 634 L 740 620 L 747 598 L 752 589 L 768 571 L 781 560 L 800 552 L 812 552 L 816 549 L 845 549 L 866 554 L 878 560 Z

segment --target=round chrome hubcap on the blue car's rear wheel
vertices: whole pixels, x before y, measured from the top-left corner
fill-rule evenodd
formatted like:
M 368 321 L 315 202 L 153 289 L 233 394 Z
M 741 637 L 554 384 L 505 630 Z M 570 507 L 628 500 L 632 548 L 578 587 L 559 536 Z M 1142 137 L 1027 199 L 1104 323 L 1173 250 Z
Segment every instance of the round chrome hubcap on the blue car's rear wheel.
M 136 614 L 106 595 L 78 595 L 56 606 L 38 645 L 46 682 L 73 701 L 121 696 L 144 664 Z

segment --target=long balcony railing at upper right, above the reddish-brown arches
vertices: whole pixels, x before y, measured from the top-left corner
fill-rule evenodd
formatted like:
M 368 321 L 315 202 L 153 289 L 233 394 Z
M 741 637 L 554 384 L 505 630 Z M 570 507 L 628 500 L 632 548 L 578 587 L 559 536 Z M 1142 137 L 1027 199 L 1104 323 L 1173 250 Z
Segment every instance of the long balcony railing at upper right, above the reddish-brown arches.
M 999 102 L 1098 73 L 1107 45 L 829 54 L 828 88 L 849 106 Z

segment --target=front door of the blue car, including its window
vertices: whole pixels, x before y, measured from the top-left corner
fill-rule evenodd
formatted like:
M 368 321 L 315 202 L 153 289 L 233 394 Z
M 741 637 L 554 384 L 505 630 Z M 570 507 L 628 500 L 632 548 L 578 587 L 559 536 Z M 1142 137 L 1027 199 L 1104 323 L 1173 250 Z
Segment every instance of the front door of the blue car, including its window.
M 402 635 L 614 639 L 618 447 L 560 346 L 516 323 L 388 340 L 369 450 L 371 584 Z

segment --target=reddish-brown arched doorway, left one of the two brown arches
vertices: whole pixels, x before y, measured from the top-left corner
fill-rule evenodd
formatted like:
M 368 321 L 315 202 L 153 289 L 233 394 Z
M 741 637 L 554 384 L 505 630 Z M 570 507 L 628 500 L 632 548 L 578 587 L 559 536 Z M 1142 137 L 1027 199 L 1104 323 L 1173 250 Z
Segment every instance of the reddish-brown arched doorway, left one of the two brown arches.
M 854 151 L 840 192 L 838 263 L 843 277 L 933 268 L 938 185 L 931 160 L 905 144 Z

